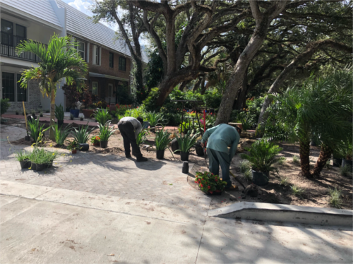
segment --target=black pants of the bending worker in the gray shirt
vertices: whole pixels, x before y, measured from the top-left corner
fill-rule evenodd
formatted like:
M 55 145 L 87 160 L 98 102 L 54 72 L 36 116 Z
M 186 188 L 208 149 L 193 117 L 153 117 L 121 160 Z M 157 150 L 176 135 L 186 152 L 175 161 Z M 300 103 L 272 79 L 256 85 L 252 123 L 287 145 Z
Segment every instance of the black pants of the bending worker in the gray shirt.
M 137 157 L 138 159 L 142 157 L 142 153 L 140 152 L 140 148 L 138 147 L 136 143 L 136 138 L 135 138 L 135 131 L 133 128 L 133 124 L 129 121 L 120 121 L 118 123 L 118 128 L 121 133 L 121 136 L 123 136 L 124 139 L 124 149 L 125 149 L 125 155 L 128 156 L 130 155 L 130 144 L 131 147 L 133 148 L 133 155 Z

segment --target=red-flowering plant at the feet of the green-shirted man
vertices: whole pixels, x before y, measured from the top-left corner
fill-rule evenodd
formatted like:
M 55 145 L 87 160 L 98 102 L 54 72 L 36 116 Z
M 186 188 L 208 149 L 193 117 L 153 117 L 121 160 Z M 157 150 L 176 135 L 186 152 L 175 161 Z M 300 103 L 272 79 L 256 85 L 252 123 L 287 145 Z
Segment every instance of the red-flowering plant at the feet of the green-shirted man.
M 205 193 L 213 193 L 214 191 L 223 191 L 227 185 L 227 181 L 222 181 L 220 176 L 211 172 L 196 172 L 196 184 Z

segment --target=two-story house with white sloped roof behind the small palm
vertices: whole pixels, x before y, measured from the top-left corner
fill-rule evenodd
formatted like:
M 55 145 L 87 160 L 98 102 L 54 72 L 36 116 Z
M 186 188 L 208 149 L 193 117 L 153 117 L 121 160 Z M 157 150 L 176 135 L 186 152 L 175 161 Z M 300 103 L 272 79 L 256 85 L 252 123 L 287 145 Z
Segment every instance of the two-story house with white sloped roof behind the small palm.
M 86 83 L 90 91 L 107 102 L 115 103 L 117 89 L 130 85 L 131 54 L 124 40 L 61 0 L 0 0 L 0 29 L 0 98 L 10 99 L 10 111 L 21 110 L 22 102 L 27 109 L 49 109 L 50 105 L 35 81 L 26 90 L 18 83 L 23 69 L 39 62 L 30 53 L 17 56 L 16 45 L 26 39 L 47 44 L 54 33 L 74 37 L 89 66 Z M 56 104 L 65 103 L 64 92 L 58 89 Z

